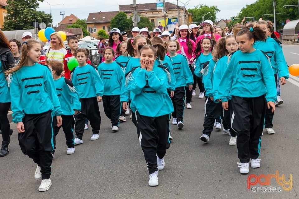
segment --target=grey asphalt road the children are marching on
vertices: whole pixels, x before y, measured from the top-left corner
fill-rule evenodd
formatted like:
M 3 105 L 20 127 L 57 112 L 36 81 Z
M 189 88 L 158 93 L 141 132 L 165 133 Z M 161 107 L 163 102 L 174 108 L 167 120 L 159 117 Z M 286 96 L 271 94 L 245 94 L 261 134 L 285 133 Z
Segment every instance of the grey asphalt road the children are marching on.
M 284 45 L 283 49 L 289 65 L 299 63 L 299 46 Z M 237 148 L 228 145 L 230 137 L 214 130 L 209 143 L 199 139 L 203 130 L 204 99 L 197 98 L 197 90 L 192 109 L 185 111 L 183 130 L 171 125 L 173 141 L 164 158 L 165 168 L 159 172 L 159 186 L 148 186 L 149 174 L 135 126 L 129 117 L 120 124 L 119 132 L 112 133 L 110 121 L 104 114 L 102 103 L 99 103 L 102 123 L 98 140 L 90 140 L 92 133 L 89 129 L 84 132 L 83 144 L 75 146 L 76 152 L 66 155 L 64 133 L 59 132 L 52 163 L 52 187 L 46 192 L 38 192 L 40 181 L 34 179 L 36 164 L 21 153 L 16 124 L 12 123 L 15 132 L 9 146 L 10 153 L 0 158 L 0 198 L 297 198 L 298 91 L 297 77 L 290 78 L 282 86 L 284 103 L 276 108 L 275 134 L 264 133 L 261 167 L 249 170 L 249 174 L 256 176 L 278 171 L 279 177 L 284 174 L 286 181 L 292 174 L 293 187 L 289 191 L 282 189 L 274 178 L 270 184 L 278 191 L 263 192 L 265 188 L 259 188 L 254 192 L 248 189 L 249 174 L 239 173 Z M 257 184 L 253 187 L 269 186 Z

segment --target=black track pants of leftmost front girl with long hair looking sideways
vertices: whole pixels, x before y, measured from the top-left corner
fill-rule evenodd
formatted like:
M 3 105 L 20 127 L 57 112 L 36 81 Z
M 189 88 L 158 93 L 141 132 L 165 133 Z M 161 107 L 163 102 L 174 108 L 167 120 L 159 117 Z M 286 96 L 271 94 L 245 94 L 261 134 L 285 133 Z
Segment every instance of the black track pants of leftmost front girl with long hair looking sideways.
M 51 111 L 40 114 L 25 114 L 25 132 L 19 133 L 22 152 L 40 166 L 41 179 L 51 175 L 53 145 L 53 116 Z

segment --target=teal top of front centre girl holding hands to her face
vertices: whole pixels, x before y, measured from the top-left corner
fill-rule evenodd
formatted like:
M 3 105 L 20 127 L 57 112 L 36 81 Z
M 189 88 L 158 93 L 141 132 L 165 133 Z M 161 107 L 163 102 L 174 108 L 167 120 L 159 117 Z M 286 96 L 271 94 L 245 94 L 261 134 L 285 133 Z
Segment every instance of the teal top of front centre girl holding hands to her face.
M 159 66 L 154 66 L 153 71 L 147 72 L 140 67 L 135 69 L 128 84 L 128 89 L 133 92 L 130 108 L 140 115 L 159 117 L 173 112 L 173 104 L 168 95 L 168 75 Z

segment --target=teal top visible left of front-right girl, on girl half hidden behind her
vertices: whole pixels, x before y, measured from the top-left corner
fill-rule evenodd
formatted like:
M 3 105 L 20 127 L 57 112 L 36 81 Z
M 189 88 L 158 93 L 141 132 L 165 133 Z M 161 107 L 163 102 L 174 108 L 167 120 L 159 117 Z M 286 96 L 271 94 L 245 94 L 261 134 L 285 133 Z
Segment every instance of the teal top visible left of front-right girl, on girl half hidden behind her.
M 214 74 L 213 74 L 213 97 L 214 102 L 218 102 L 217 99 L 220 99 L 218 95 L 220 80 L 224 74 L 224 71 L 227 67 L 227 59 L 228 56 L 223 56 L 222 58 L 218 59 L 216 62 Z M 231 99 L 231 95 L 229 96 L 229 100 Z

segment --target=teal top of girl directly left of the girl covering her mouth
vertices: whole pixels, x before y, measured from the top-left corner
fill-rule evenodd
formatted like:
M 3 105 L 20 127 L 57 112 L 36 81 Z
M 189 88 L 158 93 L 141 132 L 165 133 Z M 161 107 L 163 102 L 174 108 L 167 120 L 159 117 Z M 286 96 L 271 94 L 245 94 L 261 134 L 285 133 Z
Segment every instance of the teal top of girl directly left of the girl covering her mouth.
M 121 66 L 116 62 L 102 62 L 97 71 L 104 83 L 104 95 L 121 95 L 122 82 L 125 79 Z

